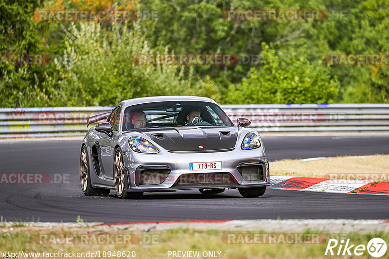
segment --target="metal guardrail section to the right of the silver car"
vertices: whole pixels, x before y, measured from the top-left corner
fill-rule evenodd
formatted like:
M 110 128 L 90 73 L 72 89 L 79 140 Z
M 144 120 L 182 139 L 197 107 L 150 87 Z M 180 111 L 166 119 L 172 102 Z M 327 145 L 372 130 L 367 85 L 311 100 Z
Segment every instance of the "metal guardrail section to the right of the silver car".
M 387 131 L 389 104 L 224 105 L 224 111 L 251 120 L 258 131 Z

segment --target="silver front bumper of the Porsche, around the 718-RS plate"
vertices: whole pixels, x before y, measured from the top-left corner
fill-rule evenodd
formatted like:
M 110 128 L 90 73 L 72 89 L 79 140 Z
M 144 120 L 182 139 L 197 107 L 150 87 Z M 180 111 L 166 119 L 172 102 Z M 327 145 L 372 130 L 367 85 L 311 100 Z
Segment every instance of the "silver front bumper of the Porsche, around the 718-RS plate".
M 123 155 L 129 186 L 125 188 L 125 191 L 175 192 L 203 188 L 250 188 L 270 185 L 268 162 L 262 148 L 253 150 L 235 148 L 231 151 L 210 153 L 171 153 L 160 150 L 158 154 L 141 154 L 128 151 L 123 152 Z M 221 162 L 222 168 L 191 171 L 189 170 L 190 162 Z M 260 166 L 262 177 L 256 180 L 248 180 L 247 177 L 245 179 L 242 172 L 237 169 L 244 166 Z M 156 184 L 142 185 L 140 174 L 145 170 L 160 170 L 167 177 L 160 181 L 157 180 Z M 208 178 L 209 174 L 213 174 L 216 180 Z M 181 179 L 184 175 L 201 180 L 183 182 Z M 227 180 L 226 175 L 229 175 L 232 181 Z

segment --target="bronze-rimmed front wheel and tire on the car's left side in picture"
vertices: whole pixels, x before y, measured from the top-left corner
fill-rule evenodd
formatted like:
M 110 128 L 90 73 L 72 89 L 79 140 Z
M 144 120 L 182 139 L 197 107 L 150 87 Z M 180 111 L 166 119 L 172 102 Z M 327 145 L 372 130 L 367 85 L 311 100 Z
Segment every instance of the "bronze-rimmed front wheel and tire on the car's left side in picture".
M 121 199 L 140 199 L 143 192 L 126 192 L 129 189 L 127 172 L 124 168 L 123 153 L 119 148 L 115 151 L 113 162 L 113 182 L 115 193 Z

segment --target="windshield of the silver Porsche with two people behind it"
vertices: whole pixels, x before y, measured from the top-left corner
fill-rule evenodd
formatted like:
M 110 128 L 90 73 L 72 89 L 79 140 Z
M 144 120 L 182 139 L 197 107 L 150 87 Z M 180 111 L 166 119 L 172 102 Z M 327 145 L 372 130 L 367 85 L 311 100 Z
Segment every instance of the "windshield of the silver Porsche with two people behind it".
M 196 122 L 193 122 L 195 117 Z M 214 103 L 199 101 L 154 102 L 124 110 L 123 130 L 150 127 L 234 126 Z M 192 122 L 191 125 L 188 123 Z

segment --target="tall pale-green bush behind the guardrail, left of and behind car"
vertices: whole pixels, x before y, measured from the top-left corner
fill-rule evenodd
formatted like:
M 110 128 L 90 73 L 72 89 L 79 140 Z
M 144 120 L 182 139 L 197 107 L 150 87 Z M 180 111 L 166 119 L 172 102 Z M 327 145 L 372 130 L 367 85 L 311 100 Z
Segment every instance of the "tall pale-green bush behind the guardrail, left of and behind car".
M 65 105 L 116 105 L 123 99 L 160 95 L 218 97 L 212 80 L 198 81 L 193 70 L 184 74 L 182 65 L 138 65 L 137 54 L 168 53 L 167 48 L 151 48 L 128 24 L 116 26 L 108 32 L 99 23 L 70 28 L 74 39 L 66 40 L 63 58 L 55 61 Z

